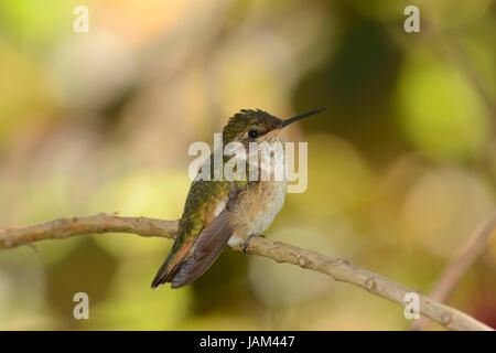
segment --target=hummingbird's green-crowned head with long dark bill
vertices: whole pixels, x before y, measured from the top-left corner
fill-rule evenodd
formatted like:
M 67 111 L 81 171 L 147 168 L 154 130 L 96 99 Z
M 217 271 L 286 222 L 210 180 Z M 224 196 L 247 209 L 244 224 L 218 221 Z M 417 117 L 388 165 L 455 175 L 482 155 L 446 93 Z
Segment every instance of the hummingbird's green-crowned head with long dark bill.
M 291 122 L 323 110 L 325 108 L 311 110 L 283 120 L 260 109 L 241 109 L 224 127 L 224 143 L 237 141 L 247 145 L 249 142 L 270 141 L 273 138 L 278 139 L 282 129 Z

